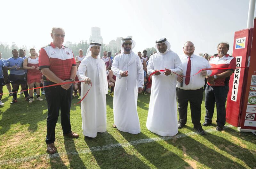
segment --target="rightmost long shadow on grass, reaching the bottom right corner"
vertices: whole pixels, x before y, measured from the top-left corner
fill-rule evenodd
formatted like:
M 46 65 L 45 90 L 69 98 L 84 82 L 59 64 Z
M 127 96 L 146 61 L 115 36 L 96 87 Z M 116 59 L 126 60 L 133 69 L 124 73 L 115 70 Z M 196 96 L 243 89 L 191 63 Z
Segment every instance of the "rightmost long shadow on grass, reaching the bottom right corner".
M 226 151 L 228 154 L 244 161 L 250 168 L 256 167 L 256 154 L 252 154 L 249 150 L 230 142 L 233 140 L 232 138 L 230 138 L 229 141 L 225 138 L 212 135 L 211 133 L 207 133 L 207 137 L 205 138 L 220 150 Z

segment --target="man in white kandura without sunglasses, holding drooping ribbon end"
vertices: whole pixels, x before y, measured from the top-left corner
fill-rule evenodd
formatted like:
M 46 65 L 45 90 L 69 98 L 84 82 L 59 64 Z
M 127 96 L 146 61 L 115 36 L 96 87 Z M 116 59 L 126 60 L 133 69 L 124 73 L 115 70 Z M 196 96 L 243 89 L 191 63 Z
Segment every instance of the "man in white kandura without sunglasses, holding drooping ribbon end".
M 107 130 L 106 94 L 108 81 L 105 62 L 100 59 L 101 44 L 90 43 L 85 58 L 78 67 L 81 83 L 81 98 L 91 87 L 81 102 L 82 129 L 86 137 L 96 137 L 98 132 Z

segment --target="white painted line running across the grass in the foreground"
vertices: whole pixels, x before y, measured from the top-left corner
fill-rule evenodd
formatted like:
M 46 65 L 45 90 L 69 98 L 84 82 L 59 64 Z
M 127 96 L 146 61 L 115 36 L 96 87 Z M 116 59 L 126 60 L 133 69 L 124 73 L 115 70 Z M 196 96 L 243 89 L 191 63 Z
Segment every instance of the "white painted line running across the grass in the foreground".
M 232 125 L 224 126 L 224 128 L 230 128 L 230 127 L 233 127 L 233 126 Z M 213 129 L 208 129 L 208 130 L 205 130 L 205 131 L 207 133 L 211 133 L 211 132 L 215 132 L 216 129 L 213 128 Z M 186 134 L 177 134 L 175 136 L 145 138 L 145 139 L 131 141 L 131 142 L 128 142 L 128 143 L 116 143 L 116 144 L 108 144 L 108 145 L 104 145 L 104 146 L 96 146 L 96 147 L 87 148 L 83 151 L 68 151 L 68 152 L 65 152 L 65 153 L 42 154 L 42 155 L 25 157 L 25 158 L 15 158 L 15 159 L 10 159 L 10 160 L 2 160 L 2 161 L 0 161 L 0 165 L 27 162 L 27 161 L 31 161 L 33 159 L 38 159 L 38 158 L 49 159 L 49 158 L 57 158 L 57 157 L 60 157 L 60 156 L 63 156 L 63 155 L 86 154 L 86 153 L 90 153 L 90 152 L 94 152 L 94 151 L 105 151 L 105 150 L 110 150 L 110 149 L 118 148 L 118 147 L 129 147 L 129 146 L 142 144 L 142 143 L 151 143 L 151 142 L 157 142 L 157 141 L 161 141 L 161 140 L 170 140 L 170 139 L 181 138 L 181 137 L 192 136 L 192 135 L 199 135 L 199 133 L 198 132 L 188 132 Z

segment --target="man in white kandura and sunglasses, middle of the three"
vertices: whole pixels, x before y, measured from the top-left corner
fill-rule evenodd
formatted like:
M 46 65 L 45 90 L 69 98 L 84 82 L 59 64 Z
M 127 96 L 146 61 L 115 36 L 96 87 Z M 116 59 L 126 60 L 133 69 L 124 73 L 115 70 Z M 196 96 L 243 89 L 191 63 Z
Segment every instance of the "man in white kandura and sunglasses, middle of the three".
M 137 113 L 138 93 L 143 89 L 144 71 L 140 57 L 132 52 L 135 41 L 123 38 L 121 54 L 116 55 L 112 71 L 116 78 L 114 90 L 113 127 L 131 134 L 140 133 L 140 121 Z M 176 119 L 177 121 L 177 119 Z

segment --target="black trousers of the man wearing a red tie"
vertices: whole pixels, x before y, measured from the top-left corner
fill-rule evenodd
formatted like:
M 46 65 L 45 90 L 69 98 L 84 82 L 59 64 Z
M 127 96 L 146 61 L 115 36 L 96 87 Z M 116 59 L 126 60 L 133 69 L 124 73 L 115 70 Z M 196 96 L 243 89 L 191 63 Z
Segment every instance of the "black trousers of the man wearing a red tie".
M 201 128 L 201 104 L 203 100 L 203 87 L 197 90 L 183 90 L 176 88 L 178 99 L 178 111 L 180 119 L 178 123 L 185 125 L 187 123 L 188 101 L 191 110 L 191 120 L 195 128 Z

